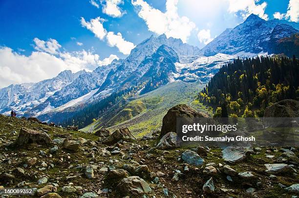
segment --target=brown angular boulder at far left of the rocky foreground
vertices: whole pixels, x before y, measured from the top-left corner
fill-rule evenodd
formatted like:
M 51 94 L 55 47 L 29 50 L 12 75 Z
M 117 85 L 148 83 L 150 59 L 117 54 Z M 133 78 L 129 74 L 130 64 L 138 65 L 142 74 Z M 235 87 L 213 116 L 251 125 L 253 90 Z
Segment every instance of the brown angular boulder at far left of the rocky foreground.
M 17 143 L 20 146 L 31 143 L 49 145 L 50 143 L 52 143 L 52 140 L 49 137 L 49 135 L 45 132 L 39 132 L 23 127 L 21 128 L 19 137 L 17 139 Z

